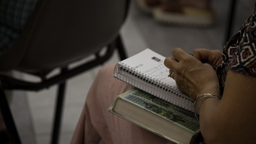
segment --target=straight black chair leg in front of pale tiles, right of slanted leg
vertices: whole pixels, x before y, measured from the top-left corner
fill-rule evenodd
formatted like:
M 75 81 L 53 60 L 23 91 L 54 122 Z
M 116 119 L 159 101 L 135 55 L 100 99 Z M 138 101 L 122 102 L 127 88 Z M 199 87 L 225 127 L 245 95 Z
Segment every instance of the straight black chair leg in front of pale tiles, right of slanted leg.
M 67 71 L 67 68 L 63 68 L 61 70 L 62 73 L 66 71 Z M 59 84 L 58 99 L 56 101 L 56 108 L 55 108 L 54 127 L 52 129 L 52 138 L 51 138 L 52 144 L 57 144 L 59 140 L 59 131 L 61 126 L 61 115 L 62 115 L 62 107 L 63 107 L 64 94 L 65 94 L 65 87 L 66 87 L 66 81 L 64 81 L 62 84 Z

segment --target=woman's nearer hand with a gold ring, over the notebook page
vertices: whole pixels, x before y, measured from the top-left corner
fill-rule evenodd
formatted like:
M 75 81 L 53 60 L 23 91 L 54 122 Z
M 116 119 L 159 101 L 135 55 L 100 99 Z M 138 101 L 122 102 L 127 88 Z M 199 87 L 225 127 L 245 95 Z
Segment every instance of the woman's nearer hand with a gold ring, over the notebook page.
M 196 57 L 191 56 L 180 48 L 173 50 L 172 54 L 174 58 L 168 57 L 165 59 L 164 64 L 173 71 L 173 79 L 180 91 L 185 92 L 193 99 L 196 96 L 204 93 L 219 94 L 219 82 L 216 72 L 209 64 L 203 64 L 198 59 L 204 59 L 203 52 L 195 51 Z M 208 52 L 207 52 L 208 53 Z M 219 55 L 216 52 L 216 59 Z M 218 57 L 217 57 L 218 55 Z M 216 59 L 209 59 L 209 62 L 219 61 Z

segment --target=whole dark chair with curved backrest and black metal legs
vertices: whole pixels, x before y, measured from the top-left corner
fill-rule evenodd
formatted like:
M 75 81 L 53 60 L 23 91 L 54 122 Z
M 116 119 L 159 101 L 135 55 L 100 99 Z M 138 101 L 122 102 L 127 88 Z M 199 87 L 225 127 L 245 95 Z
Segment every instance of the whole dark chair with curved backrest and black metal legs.
M 41 82 L 31 82 L 0 75 L 0 108 L 10 142 L 21 143 L 4 90 L 39 91 L 58 84 L 51 141 L 58 143 L 66 80 L 104 63 L 114 49 L 121 60 L 126 58 L 119 31 L 129 3 L 129 0 L 38 0 L 19 38 L 0 55 L 0 71 L 18 70 L 41 78 Z M 101 55 L 103 48 L 107 50 Z M 91 54 L 95 55 L 94 60 L 68 68 L 71 62 Z M 61 68 L 61 73 L 48 78 L 47 74 L 55 68 Z

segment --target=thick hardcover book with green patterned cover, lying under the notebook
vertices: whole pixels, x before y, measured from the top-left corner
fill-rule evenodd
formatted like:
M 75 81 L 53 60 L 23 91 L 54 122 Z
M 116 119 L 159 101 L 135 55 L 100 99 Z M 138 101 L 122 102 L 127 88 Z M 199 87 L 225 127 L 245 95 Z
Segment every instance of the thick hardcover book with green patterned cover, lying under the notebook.
M 120 103 L 120 100 L 122 103 Z M 131 109 L 131 107 L 133 108 Z M 139 110 L 141 112 L 138 112 Z M 189 143 L 193 136 L 200 132 L 199 121 L 194 113 L 158 99 L 137 88 L 132 88 L 117 96 L 109 111 L 176 143 Z M 128 114 L 124 111 L 128 111 Z M 152 115 L 153 117 L 148 117 Z M 162 124 L 165 124 L 165 126 L 158 129 L 157 127 Z M 166 126 L 170 127 L 166 129 Z M 173 135 L 170 134 L 172 132 Z M 183 136 L 184 132 L 187 132 L 187 135 Z M 184 138 L 186 136 L 187 138 Z M 187 142 L 180 142 L 184 139 L 187 139 Z

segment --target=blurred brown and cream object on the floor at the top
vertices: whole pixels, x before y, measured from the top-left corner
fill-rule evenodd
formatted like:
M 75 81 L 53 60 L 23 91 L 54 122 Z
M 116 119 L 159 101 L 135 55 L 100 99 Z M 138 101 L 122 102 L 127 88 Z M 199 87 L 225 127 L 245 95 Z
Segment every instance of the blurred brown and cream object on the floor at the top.
M 160 23 L 200 27 L 214 24 L 210 0 L 137 0 L 137 4 Z

